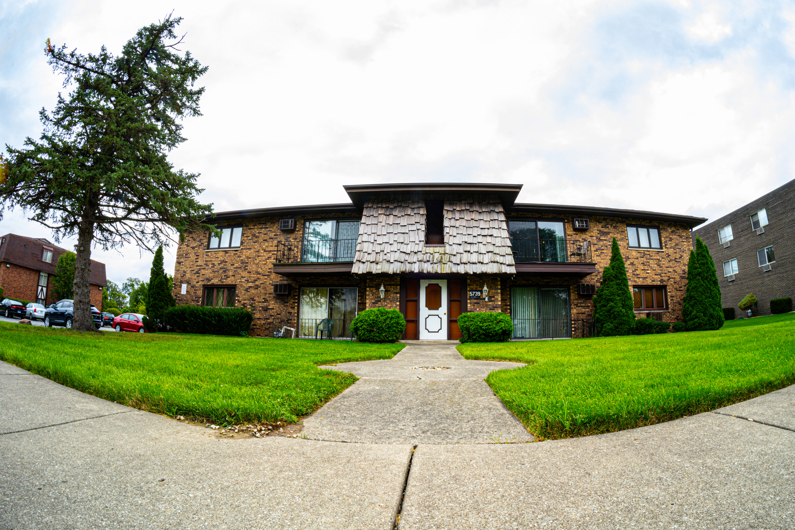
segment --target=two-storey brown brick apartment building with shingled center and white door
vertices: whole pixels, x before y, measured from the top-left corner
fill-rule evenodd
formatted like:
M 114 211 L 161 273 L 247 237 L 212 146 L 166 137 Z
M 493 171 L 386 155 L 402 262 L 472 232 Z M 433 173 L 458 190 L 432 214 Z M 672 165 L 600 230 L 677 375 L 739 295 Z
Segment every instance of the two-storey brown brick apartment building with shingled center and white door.
M 706 219 L 515 203 L 521 188 L 346 186 L 351 203 L 220 212 L 221 238 L 185 234 L 174 296 L 250 308 L 260 336 L 314 336 L 323 318 L 350 336 L 375 307 L 400 309 L 407 339 L 457 339 L 465 311 L 510 314 L 518 339 L 583 336 L 615 237 L 636 313 L 681 319 L 690 229 Z

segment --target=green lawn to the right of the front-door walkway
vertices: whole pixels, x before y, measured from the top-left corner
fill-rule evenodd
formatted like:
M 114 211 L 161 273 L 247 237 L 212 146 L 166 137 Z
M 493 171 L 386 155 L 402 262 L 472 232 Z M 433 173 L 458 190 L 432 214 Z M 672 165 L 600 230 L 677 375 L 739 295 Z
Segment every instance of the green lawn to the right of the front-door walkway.
M 486 382 L 546 439 L 707 412 L 795 383 L 795 313 L 719 331 L 462 344 L 467 359 L 526 362 Z

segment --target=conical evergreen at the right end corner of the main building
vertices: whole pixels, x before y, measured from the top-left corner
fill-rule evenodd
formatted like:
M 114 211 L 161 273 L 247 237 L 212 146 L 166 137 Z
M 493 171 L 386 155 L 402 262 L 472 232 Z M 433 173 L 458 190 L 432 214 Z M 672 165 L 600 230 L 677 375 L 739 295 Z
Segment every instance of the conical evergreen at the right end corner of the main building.
M 688 260 L 688 285 L 682 300 L 682 317 L 689 331 L 717 330 L 723 326 L 718 275 L 709 249 L 696 237 Z

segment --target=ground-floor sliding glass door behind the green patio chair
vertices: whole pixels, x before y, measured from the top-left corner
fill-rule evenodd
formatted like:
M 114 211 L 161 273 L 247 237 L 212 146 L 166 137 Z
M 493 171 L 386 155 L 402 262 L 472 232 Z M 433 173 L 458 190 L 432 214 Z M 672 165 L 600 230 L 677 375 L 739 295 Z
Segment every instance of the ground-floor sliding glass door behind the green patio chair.
M 320 321 L 332 319 L 329 336 L 349 338 L 351 322 L 356 318 L 358 293 L 356 288 L 301 288 L 298 335 L 314 337 Z

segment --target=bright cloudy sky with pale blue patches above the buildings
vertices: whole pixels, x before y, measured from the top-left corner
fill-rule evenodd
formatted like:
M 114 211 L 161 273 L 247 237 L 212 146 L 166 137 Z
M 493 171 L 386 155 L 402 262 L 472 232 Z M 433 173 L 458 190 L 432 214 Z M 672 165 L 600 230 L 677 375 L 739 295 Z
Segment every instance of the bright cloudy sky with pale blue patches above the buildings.
M 118 52 L 172 9 L 209 66 L 172 161 L 215 211 L 501 182 L 525 203 L 715 219 L 793 179 L 795 4 L 763 0 L 2 0 L 0 144 L 37 138 L 64 90 L 47 38 Z M 9 232 L 51 238 L 18 210 Z M 92 257 L 149 278 L 138 248 Z

